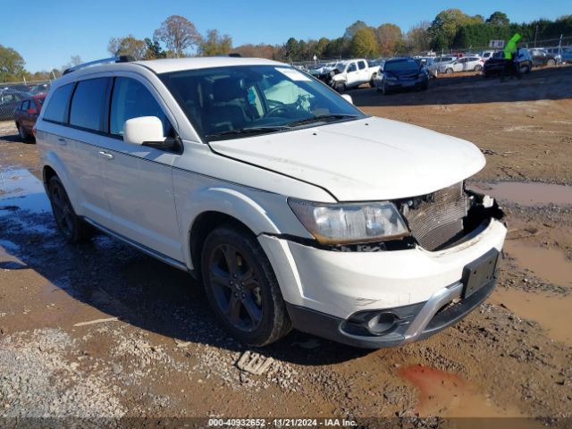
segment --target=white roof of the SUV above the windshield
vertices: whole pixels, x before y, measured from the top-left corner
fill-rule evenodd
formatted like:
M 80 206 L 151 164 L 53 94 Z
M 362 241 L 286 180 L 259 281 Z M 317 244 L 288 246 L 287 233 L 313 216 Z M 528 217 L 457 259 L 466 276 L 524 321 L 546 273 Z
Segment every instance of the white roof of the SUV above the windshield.
M 233 56 L 203 56 L 196 58 L 168 58 L 162 60 L 136 61 L 155 71 L 166 73 L 171 71 L 183 71 L 193 69 L 206 69 L 210 67 L 225 67 L 233 65 L 286 65 L 264 58 L 241 58 Z

